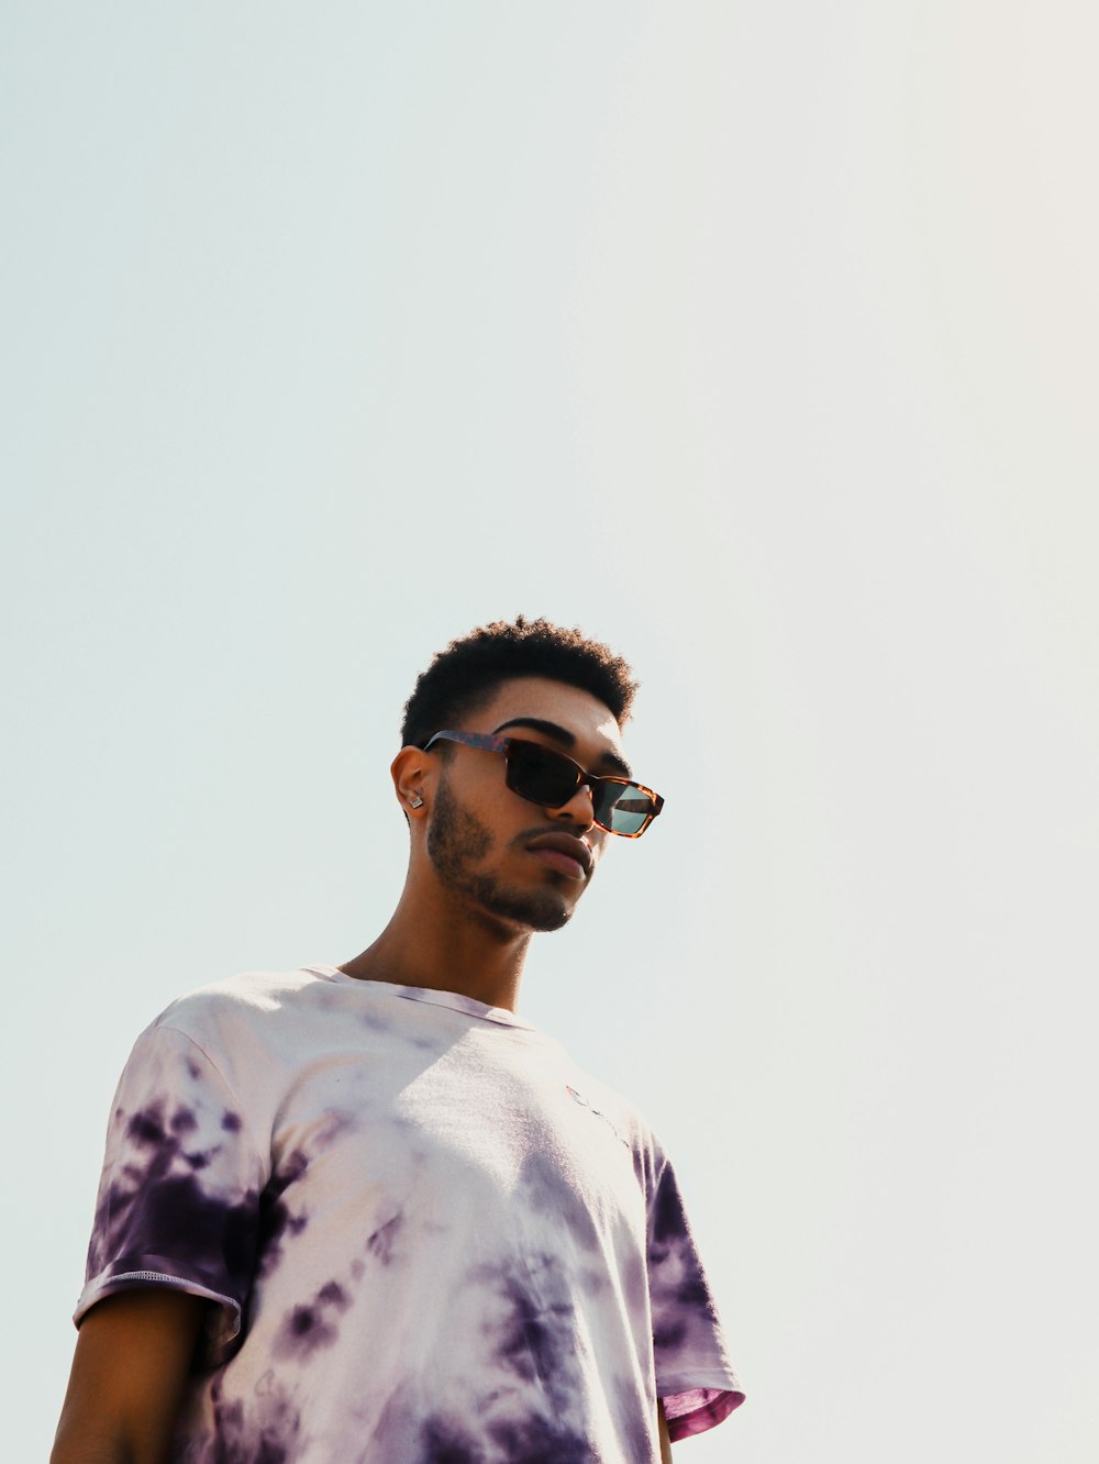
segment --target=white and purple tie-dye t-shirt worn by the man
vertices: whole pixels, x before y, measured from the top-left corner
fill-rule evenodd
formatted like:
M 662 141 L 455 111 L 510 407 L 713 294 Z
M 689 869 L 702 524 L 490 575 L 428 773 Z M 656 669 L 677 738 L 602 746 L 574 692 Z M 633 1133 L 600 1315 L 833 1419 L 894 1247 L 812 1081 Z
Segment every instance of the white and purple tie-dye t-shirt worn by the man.
M 656 1464 L 742 1400 L 660 1143 L 520 1016 L 332 966 L 126 1066 L 76 1321 L 208 1297 L 186 1464 Z

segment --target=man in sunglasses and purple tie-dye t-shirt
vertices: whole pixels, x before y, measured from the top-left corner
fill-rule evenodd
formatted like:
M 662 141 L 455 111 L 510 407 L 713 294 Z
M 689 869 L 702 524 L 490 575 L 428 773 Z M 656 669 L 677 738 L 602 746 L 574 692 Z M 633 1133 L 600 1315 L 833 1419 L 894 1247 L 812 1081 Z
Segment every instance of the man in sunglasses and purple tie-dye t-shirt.
M 142 1034 L 53 1464 L 656 1464 L 742 1401 L 659 1140 L 517 1013 L 531 934 L 660 813 L 634 691 L 544 621 L 452 643 L 378 940 Z

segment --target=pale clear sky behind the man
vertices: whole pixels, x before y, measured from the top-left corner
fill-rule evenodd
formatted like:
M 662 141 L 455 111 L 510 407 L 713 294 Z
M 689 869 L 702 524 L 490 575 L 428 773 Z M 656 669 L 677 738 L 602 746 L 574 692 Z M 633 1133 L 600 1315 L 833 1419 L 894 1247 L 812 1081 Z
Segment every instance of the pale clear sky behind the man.
M 676 1457 L 1093 1464 L 1095 6 L 0 26 L 6 1458 L 135 1035 L 376 935 L 401 706 L 525 612 L 667 798 L 521 1010 L 676 1158 Z

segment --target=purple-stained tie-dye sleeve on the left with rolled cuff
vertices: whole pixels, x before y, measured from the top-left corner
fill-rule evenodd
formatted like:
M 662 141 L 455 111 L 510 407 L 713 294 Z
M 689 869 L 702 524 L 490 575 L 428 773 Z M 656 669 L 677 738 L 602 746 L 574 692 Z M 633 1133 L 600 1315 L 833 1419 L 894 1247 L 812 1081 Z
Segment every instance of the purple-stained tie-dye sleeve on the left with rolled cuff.
M 218 1303 L 209 1360 L 220 1360 L 240 1332 L 262 1179 L 211 1058 L 174 1028 L 145 1031 L 114 1097 L 76 1325 L 116 1291 L 179 1287 Z

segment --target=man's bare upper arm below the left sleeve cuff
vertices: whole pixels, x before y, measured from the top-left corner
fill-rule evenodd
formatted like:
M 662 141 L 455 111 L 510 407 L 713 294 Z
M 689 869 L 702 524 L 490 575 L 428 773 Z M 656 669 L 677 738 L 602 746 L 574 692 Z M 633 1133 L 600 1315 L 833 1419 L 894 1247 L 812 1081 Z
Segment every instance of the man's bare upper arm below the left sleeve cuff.
M 158 1287 L 91 1309 L 50 1464 L 164 1464 L 208 1304 Z

